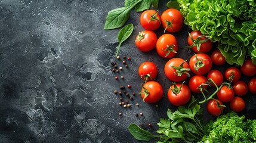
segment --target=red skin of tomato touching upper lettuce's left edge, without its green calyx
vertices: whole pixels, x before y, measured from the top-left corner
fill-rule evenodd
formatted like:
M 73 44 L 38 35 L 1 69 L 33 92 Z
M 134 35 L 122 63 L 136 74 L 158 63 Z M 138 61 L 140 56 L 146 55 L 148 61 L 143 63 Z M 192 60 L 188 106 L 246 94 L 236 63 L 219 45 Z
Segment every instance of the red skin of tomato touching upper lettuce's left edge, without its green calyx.
M 192 32 L 190 32 L 190 35 L 192 36 L 192 38 L 194 40 L 196 40 L 199 36 L 202 36 L 203 34 L 200 31 L 192 31 Z M 205 39 L 208 39 L 208 38 L 206 38 L 205 36 L 202 36 L 200 38 L 201 41 L 203 41 Z M 190 38 L 190 36 L 187 37 L 187 43 L 189 44 L 189 46 L 193 45 L 193 41 Z M 192 50 L 195 53 L 206 53 L 206 52 L 209 52 L 211 49 L 212 49 L 212 42 L 210 40 L 201 43 L 199 51 L 198 51 L 197 46 L 193 46 L 193 48 L 192 48 Z

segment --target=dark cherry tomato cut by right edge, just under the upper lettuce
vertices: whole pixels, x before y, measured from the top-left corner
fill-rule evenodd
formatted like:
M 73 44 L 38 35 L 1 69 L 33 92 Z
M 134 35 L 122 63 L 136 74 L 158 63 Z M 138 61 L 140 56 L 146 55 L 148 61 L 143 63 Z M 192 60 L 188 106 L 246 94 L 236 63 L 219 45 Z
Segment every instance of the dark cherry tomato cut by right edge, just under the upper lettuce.
M 252 59 L 248 58 L 243 63 L 243 66 L 240 68 L 245 76 L 255 76 L 256 74 L 256 65 L 252 63 Z

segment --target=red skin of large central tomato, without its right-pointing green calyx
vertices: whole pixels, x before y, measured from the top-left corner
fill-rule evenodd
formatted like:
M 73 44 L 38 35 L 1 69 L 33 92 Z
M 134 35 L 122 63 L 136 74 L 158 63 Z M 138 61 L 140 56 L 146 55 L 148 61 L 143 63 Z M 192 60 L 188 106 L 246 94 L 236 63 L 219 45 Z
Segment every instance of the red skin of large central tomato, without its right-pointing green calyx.
M 167 61 L 167 63 L 165 64 L 165 76 L 171 80 L 172 82 L 181 82 L 183 80 L 185 80 L 189 75 L 186 73 L 181 74 L 181 76 L 177 76 L 177 71 L 171 67 L 179 67 L 181 65 L 181 63 L 183 63 L 185 60 L 183 60 L 182 58 L 171 58 L 169 61 Z M 189 69 L 189 64 L 187 64 L 187 62 L 185 62 L 183 64 L 183 68 Z M 186 71 L 187 73 L 189 73 L 189 71 Z

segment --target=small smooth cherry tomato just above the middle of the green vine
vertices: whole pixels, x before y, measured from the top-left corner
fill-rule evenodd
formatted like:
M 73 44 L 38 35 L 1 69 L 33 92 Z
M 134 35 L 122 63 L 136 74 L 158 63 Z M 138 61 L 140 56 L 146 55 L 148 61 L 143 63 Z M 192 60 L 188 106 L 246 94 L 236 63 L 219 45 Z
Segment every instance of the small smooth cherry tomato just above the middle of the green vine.
M 223 83 L 224 77 L 221 71 L 219 70 L 211 70 L 207 74 L 207 79 L 212 79 L 217 86 L 220 86 Z M 214 86 L 214 83 L 211 83 L 211 86 Z

